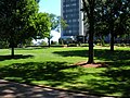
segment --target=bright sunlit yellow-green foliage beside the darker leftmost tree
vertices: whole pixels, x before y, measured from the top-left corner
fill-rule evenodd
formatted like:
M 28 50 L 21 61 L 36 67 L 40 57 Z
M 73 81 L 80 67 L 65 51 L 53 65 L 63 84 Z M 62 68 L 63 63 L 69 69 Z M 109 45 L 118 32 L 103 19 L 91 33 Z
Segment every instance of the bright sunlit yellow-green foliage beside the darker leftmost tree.
M 50 17 L 47 13 L 36 13 L 30 16 L 28 33 L 31 33 L 35 39 L 41 39 L 49 36 L 50 26 Z

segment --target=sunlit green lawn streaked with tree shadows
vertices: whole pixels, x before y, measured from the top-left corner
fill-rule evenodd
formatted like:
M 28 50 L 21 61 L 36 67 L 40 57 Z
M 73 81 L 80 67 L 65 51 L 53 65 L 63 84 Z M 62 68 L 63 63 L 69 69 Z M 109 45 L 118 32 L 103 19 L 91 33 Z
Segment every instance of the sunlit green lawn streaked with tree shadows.
M 25 48 L 0 50 L 0 78 L 81 90 L 90 94 L 130 97 L 130 47 L 94 48 L 95 62 L 108 68 L 72 66 L 87 61 L 88 48 Z

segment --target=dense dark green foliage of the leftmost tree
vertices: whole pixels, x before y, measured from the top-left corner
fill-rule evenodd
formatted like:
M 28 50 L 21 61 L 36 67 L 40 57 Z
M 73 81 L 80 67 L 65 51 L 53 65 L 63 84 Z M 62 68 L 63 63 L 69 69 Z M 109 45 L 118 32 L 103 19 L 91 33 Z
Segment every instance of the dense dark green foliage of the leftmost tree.
M 38 12 L 38 4 L 35 0 L 4 0 L 1 3 L 0 21 L 1 36 L 10 45 L 15 45 L 28 38 L 27 26 L 30 15 Z

